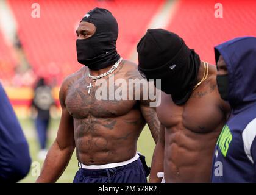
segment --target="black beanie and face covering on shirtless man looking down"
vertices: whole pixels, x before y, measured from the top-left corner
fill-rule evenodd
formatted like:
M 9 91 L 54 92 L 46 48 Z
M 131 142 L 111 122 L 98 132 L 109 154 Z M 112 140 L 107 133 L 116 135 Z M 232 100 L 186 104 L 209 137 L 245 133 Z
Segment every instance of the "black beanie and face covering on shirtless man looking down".
M 138 69 L 147 79 L 161 79 L 161 90 L 177 105 L 187 102 L 196 85 L 199 55 L 182 38 L 163 29 L 149 29 L 137 45 Z

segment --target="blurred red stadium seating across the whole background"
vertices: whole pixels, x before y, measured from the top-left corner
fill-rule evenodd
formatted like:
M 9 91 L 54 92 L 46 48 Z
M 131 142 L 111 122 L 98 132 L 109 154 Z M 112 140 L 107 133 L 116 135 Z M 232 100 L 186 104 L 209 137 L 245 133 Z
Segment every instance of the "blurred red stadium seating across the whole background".
M 166 9 L 173 13 L 161 16 L 168 23 L 165 28 L 179 34 L 190 48 L 196 49 L 202 60 L 213 64 L 213 46 L 216 44 L 238 36 L 256 36 L 255 0 L 222 0 L 224 18 L 215 18 L 215 0 L 176 0 L 172 1 L 175 9 L 165 6 L 168 0 L 38 0 L 40 18 L 31 15 L 33 0 L 6 2 L 18 24 L 18 37 L 29 65 L 37 76 L 55 79 L 57 85 L 65 76 L 82 67 L 76 59 L 75 30 L 82 16 L 94 7 L 110 10 L 118 20 L 117 48 L 125 59 L 136 53 L 136 45 L 153 18 Z M 133 60 L 137 62 L 137 57 Z M 11 79 L 15 80 L 16 64 L 13 48 L 5 44 L 0 32 L 1 80 L 9 83 Z M 14 105 L 27 105 L 30 100 L 30 95 L 21 95 L 23 90 L 19 92 L 15 88 L 15 94 L 12 89 L 5 90 L 10 91 Z

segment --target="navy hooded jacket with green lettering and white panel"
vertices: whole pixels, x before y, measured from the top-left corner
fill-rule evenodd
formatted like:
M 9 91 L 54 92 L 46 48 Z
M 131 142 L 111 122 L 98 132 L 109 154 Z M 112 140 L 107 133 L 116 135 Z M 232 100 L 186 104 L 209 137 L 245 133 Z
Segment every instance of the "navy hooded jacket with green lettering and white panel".
M 215 47 L 229 73 L 232 107 L 213 156 L 212 182 L 256 182 L 256 37 L 240 37 Z

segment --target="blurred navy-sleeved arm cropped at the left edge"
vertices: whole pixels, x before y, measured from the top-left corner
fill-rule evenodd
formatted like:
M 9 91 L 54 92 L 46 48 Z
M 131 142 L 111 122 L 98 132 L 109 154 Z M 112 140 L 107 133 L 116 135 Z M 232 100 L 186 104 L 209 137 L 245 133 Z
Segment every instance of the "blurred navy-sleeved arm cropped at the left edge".
M 0 83 L 0 182 L 18 182 L 30 169 L 29 146 Z

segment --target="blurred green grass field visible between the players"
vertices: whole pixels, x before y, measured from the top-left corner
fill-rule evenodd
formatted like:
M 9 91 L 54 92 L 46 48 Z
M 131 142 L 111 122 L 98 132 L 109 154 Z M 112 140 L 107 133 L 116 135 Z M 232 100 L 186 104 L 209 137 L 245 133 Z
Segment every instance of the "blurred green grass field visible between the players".
M 40 166 L 43 165 L 43 161 L 40 161 L 37 158 L 37 152 L 39 151 L 39 144 L 37 141 L 37 135 L 34 129 L 34 124 L 32 119 L 20 119 L 20 124 L 23 127 L 24 134 L 26 135 L 27 141 L 29 142 L 29 149 L 30 149 L 30 155 L 32 157 L 32 161 L 38 161 L 40 163 Z M 59 119 L 53 119 L 51 121 L 51 125 L 48 130 L 48 133 L 49 133 L 48 146 L 51 146 L 52 142 L 54 141 L 58 126 L 59 126 Z M 144 130 L 142 131 L 140 138 L 138 140 L 137 151 L 141 152 L 141 154 L 146 156 L 146 162 L 148 163 L 148 166 L 151 166 L 154 147 L 155 147 L 154 140 L 152 139 L 148 126 L 146 126 L 144 127 Z M 73 182 L 74 175 L 76 174 L 77 170 L 78 170 L 77 158 L 74 152 L 68 167 L 63 172 L 62 176 L 57 182 L 63 182 L 63 183 Z M 37 177 L 32 176 L 32 169 L 30 169 L 29 174 L 27 174 L 27 176 L 20 182 L 35 182 L 36 179 Z

